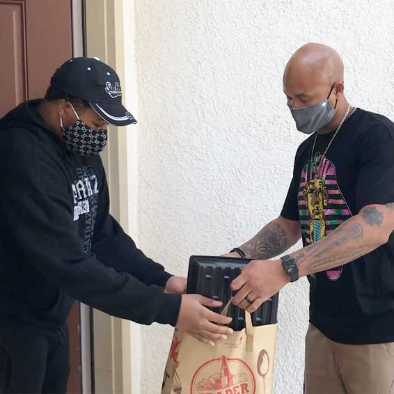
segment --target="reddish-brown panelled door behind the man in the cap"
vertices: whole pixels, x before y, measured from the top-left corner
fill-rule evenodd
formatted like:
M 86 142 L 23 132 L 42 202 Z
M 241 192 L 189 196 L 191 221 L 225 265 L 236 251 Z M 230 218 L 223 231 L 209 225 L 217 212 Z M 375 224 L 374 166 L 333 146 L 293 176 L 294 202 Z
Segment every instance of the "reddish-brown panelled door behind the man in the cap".
M 72 0 L 0 0 L 0 118 L 43 97 L 54 70 L 72 57 Z M 68 393 L 81 393 L 79 303 L 68 319 Z

